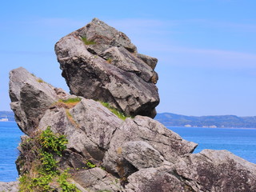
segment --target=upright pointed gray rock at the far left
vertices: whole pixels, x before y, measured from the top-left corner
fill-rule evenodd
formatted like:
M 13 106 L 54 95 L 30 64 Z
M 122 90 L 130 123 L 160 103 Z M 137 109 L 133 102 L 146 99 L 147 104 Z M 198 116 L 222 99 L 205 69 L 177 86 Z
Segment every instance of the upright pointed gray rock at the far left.
M 10 71 L 10 100 L 18 126 L 30 134 L 58 96 L 53 86 L 20 67 Z

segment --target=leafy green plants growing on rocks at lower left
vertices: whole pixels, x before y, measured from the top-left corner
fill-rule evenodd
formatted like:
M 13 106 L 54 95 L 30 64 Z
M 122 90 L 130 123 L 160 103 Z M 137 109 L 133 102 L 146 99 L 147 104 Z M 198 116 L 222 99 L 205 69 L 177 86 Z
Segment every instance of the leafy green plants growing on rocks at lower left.
M 58 170 L 58 162 L 55 159 L 62 156 L 66 144 L 66 136 L 54 134 L 50 127 L 22 143 L 24 162 L 18 159 L 18 164 L 22 165 L 20 192 L 56 191 L 51 184 L 62 191 L 78 191 L 74 184 L 68 182 L 70 176 L 67 170 L 63 173 Z

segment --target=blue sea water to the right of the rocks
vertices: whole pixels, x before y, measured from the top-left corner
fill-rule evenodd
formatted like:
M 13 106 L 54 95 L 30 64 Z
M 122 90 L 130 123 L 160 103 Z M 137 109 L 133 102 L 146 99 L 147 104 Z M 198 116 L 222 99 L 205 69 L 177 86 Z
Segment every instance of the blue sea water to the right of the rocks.
M 190 142 L 198 143 L 194 154 L 204 149 L 229 150 L 256 163 L 256 129 L 168 127 Z

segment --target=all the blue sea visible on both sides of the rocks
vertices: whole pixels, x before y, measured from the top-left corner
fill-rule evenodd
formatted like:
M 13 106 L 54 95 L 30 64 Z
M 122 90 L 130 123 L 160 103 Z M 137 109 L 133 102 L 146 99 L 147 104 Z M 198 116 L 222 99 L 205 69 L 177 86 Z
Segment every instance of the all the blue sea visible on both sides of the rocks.
M 198 143 L 194 153 L 203 149 L 230 150 L 249 162 L 256 163 L 256 129 L 168 127 L 182 138 Z M 22 131 L 16 122 L 0 122 L 0 182 L 18 178 L 15 160 Z

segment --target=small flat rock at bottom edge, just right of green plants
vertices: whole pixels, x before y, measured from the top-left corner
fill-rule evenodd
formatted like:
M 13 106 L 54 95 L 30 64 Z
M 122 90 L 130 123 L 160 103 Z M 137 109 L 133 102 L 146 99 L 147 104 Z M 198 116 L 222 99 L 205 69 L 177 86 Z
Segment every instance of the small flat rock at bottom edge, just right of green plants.
M 81 186 L 90 191 L 123 191 L 118 178 L 115 178 L 98 167 L 91 170 L 80 170 L 74 174 L 74 179 Z

